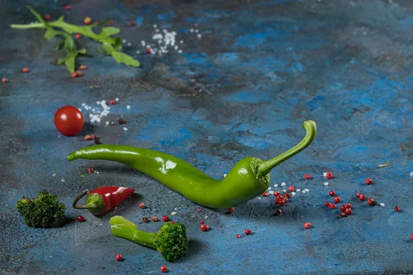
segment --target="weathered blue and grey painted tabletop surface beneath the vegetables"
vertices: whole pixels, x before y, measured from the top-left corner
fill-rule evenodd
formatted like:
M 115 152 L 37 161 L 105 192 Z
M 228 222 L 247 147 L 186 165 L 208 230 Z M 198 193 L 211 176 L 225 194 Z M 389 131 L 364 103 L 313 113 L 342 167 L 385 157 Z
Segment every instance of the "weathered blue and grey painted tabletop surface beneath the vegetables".
M 171 274 L 413 273 L 411 1 L 139 2 L 78 0 L 66 12 L 54 1 L 0 1 L 0 77 L 10 80 L 0 85 L 2 274 L 157 274 L 161 265 Z M 82 39 L 94 56 L 81 58 L 85 76 L 71 79 L 56 65 L 57 39 L 6 27 L 33 20 L 27 3 L 54 19 L 63 13 L 71 23 L 113 19 L 132 43 L 125 52 L 142 67 L 118 65 Z M 178 33 L 182 54 L 136 54 L 145 50 L 141 40 L 151 40 L 153 23 Z M 195 23 L 202 39 L 189 31 Z M 122 116 L 128 131 L 104 122 L 87 124 L 76 137 L 54 129 L 62 105 L 96 106 L 115 97 L 120 102 L 104 121 Z M 293 146 L 307 118 L 317 122 L 315 142 L 271 177 L 272 186 L 285 181 L 310 192 L 297 193 L 278 217 L 273 197 L 248 201 L 231 215 L 198 213 L 197 205 L 131 168 L 65 161 L 67 153 L 93 144 L 85 134 L 96 133 L 103 143 L 164 151 L 220 178 L 239 159 L 268 159 Z M 99 173 L 81 177 L 89 166 Z M 329 186 L 326 171 L 335 175 Z M 306 181 L 305 173 L 313 179 Z M 366 177 L 374 184 L 363 184 Z M 82 190 L 103 184 L 134 187 L 139 196 L 103 218 L 70 207 Z M 17 200 L 45 188 L 67 203 L 72 222 L 63 228 L 32 229 L 18 217 Z M 337 219 L 337 209 L 324 207 L 330 189 L 353 204 L 351 217 Z M 385 206 L 367 206 L 356 192 Z M 141 223 L 142 216 L 175 208 L 173 220 L 188 226 L 191 239 L 190 254 L 179 263 L 110 234 L 115 214 L 155 231 L 160 223 Z M 76 222 L 78 214 L 87 221 Z M 210 232 L 200 231 L 201 219 Z M 306 221 L 312 229 L 304 230 Z M 254 234 L 244 236 L 246 228 Z M 118 253 L 125 261 L 115 261 Z

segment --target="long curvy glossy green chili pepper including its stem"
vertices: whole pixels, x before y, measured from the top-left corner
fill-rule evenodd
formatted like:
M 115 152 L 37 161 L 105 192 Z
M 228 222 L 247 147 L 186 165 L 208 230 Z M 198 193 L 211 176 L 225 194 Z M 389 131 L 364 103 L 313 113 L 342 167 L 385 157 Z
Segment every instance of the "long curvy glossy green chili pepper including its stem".
M 306 120 L 303 128 L 306 136 L 290 150 L 266 161 L 246 157 L 237 162 L 222 180 L 205 175 L 178 157 L 125 145 L 100 144 L 81 148 L 70 153 L 67 160 L 107 159 L 120 162 L 157 179 L 202 206 L 231 208 L 261 195 L 270 185 L 270 171 L 313 142 L 317 132 L 315 122 Z

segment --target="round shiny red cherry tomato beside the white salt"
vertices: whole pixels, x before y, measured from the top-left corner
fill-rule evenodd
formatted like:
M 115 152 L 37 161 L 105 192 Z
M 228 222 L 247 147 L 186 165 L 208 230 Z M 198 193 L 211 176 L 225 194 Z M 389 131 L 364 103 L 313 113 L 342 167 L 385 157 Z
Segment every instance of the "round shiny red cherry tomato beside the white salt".
M 76 107 L 67 105 L 54 114 L 54 126 L 63 135 L 76 135 L 83 129 L 84 124 L 83 115 Z

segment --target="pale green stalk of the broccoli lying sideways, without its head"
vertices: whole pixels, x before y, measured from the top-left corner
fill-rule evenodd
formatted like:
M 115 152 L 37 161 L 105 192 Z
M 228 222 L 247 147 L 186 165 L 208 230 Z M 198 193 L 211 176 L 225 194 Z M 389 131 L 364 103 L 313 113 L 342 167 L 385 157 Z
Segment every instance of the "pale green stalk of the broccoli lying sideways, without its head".
M 154 240 L 156 236 L 155 233 L 139 230 L 135 223 L 128 221 L 124 217 L 112 217 L 109 220 L 109 224 L 114 236 L 145 245 L 149 248 L 156 248 Z

